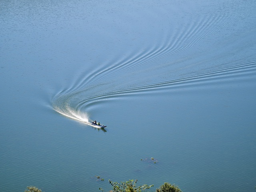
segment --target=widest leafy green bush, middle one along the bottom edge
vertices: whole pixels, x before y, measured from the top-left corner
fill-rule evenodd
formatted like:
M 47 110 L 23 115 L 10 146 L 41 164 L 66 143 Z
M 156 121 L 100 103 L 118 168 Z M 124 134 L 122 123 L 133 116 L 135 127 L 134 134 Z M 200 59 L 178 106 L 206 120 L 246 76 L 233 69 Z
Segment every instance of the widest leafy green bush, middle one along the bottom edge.
M 136 186 L 137 180 L 133 182 L 133 180 L 129 180 L 126 182 L 112 182 L 111 180 L 108 180 L 109 183 L 112 185 L 112 192 L 142 192 L 146 189 L 149 189 L 153 185 L 142 185 L 142 186 Z M 104 191 L 102 188 L 100 188 L 102 192 Z

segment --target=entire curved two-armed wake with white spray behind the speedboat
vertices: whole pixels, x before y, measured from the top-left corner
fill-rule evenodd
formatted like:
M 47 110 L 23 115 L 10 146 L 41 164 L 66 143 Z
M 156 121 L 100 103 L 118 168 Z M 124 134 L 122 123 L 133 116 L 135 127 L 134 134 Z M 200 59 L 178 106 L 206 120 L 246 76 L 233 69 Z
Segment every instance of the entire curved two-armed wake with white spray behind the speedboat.
M 186 12 L 182 9 L 179 12 Z M 161 15 L 168 16 L 169 12 L 162 12 Z M 151 94 L 156 91 L 172 92 L 181 91 L 181 88 L 182 90 L 205 88 L 210 84 L 235 83 L 241 79 L 251 78 L 256 72 L 255 56 L 226 63 L 218 61 L 222 64 L 185 74 L 181 74 L 182 72 L 175 74 L 177 70 L 202 63 L 204 61 L 202 57 L 211 58 L 212 54 L 214 57 L 223 57 L 218 55 L 217 49 L 219 46 L 225 47 L 226 44 L 220 42 L 227 38 L 233 40 L 230 36 L 241 30 L 241 26 L 245 26 L 244 20 L 249 17 L 250 13 L 246 15 L 244 12 L 232 14 L 222 11 L 221 14 L 212 12 L 207 13 L 206 16 L 195 13 L 181 20 L 180 23 L 172 18 L 168 20 L 169 27 L 165 30 L 156 29 L 156 33 L 155 30 L 150 30 L 157 36 L 152 42 L 144 42 L 144 49 L 136 50 L 136 47 L 133 47 L 124 50 L 122 56 L 110 56 L 86 75 L 81 73 L 70 89 L 62 91 L 54 98 L 53 108 L 65 116 L 87 123 L 88 115 L 84 111 L 97 102 L 136 94 Z M 143 40 L 144 38 L 141 42 Z M 215 47 L 215 50 L 212 47 Z M 204 53 L 205 50 L 207 54 Z M 169 74 L 168 71 L 164 71 L 166 66 L 170 67 Z M 172 69 L 175 71 L 171 71 Z M 157 77 L 147 77 L 147 70 L 155 71 L 150 74 Z M 142 73 L 145 73 L 144 79 L 140 76 Z M 161 76 L 162 74 L 165 77 Z M 170 77 L 171 75 L 173 76 Z M 120 79 L 120 76 L 123 79 Z M 119 83 L 119 80 L 125 83 Z M 140 80 L 144 82 L 139 82 Z M 100 87 L 106 91 L 99 91 Z

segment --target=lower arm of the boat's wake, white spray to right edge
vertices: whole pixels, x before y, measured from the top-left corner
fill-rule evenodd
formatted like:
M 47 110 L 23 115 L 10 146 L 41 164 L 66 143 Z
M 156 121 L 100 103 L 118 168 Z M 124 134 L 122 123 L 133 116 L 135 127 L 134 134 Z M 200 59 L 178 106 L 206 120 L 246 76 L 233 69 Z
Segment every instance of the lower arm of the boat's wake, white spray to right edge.
M 240 60 L 228 62 L 218 66 L 197 70 L 180 76 L 172 80 L 151 81 L 144 84 L 133 85 L 126 88 L 120 88 L 110 92 L 94 94 L 86 99 L 84 95 L 89 88 L 74 93 L 60 95 L 54 101 L 54 110 L 85 124 L 89 124 L 88 116 L 82 112 L 87 106 L 96 102 L 109 100 L 113 98 L 130 96 L 136 94 L 152 94 L 154 91 L 168 90 L 171 92 L 174 88 L 192 88 L 207 84 L 223 84 L 224 82 L 236 83 L 236 80 L 250 78 L 256 72 L 256 56 L 242 58 Z M 179 89 L 180 90 L 180 89 Z

